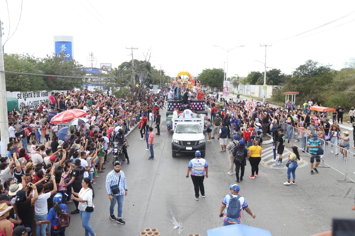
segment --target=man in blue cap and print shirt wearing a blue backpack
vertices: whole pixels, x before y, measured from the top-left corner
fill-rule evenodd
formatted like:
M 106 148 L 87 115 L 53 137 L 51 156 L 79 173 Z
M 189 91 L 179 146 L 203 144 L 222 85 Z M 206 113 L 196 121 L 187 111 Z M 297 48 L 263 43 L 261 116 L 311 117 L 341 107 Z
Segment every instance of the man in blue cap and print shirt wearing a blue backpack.
M 219 217 L 223 217 L 223 226 L 240 224 L 242 208 L 255 219 L 256 215 L 251 212 L 245 198 L 239 195 L 239 185 L 230 184 L 229 189 L 230 194 L 224 197 L 219 210 Z M 224 209 L 225 213 L 223 214 Z

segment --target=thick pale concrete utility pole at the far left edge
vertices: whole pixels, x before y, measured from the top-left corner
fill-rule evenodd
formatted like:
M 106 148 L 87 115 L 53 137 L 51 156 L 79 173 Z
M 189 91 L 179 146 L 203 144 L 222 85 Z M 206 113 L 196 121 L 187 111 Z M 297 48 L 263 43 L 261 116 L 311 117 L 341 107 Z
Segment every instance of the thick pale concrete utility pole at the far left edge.
M 1 157 L 7 157 L 7 140 L 9 140 L 9 125 L 7 122 L 7 99 L 6 99 L 6 82 L 5 82 L 5 62 L 4 47 L 2 47 L 2 31 L 4 23 L 0 26 L 0 130 L 1 130 Z M 20 124 L 21 125 L 21 124 Z

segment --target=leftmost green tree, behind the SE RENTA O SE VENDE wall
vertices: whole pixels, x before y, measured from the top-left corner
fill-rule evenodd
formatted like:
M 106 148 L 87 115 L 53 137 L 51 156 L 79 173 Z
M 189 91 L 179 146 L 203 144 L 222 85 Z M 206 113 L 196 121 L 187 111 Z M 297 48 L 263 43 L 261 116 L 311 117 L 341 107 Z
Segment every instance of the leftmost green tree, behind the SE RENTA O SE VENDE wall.
M 36 68 L 39 58 L 29 54 L 6 54 L 5 71 L 29 74 L 43 74 Z M 28 74 L 6 73 L 6 91 L 40 91 L 43 90 L 44 81 L 41 76 Z

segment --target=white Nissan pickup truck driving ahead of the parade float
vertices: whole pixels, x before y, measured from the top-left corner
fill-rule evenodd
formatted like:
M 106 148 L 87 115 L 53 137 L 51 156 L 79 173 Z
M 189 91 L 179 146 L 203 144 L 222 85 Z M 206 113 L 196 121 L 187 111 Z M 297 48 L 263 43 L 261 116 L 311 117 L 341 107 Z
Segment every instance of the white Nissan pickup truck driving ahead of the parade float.
M 173 139 L 171 141 L 171 155 L 201 152 L 201 157 L 206 155 L 206 140 L 204 133 L 204 116 L 199 114 L 197 118 L 175 118 L 173 121 Z

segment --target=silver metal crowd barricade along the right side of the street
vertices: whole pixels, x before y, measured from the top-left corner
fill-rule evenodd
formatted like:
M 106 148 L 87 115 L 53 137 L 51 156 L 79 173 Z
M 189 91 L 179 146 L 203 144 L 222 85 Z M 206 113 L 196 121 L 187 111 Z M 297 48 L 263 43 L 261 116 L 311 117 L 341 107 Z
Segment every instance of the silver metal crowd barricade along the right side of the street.
M 311 138 L 310 134 L 299 128 L 286 123 L 282 124 L 285 135 L 285 143 L 291 143 L 293 146 L 303 150 L 300 156 L 309 156 L 307 141 Z M 337 179 L 339 182 L 355 183 L 355 153 L 338 146 L 338 138 L 324 141 L 320 139 L 324 154 L 321 156 L 321 164 L 318 167 L 332 168 L 344 176 L 343 179 Z M 304 154 L 302 154 L 304 153 Z M 350 177 L 349 177 L 350 176 Z

